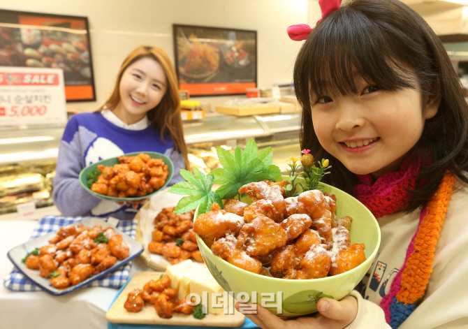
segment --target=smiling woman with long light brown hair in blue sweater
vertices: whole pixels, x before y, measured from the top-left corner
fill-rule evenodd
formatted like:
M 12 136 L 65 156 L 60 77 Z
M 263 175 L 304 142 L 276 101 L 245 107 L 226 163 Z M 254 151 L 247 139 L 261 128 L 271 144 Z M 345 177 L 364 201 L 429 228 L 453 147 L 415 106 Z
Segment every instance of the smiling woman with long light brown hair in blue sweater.
M 114 91 L 102 108 L 73 115 L 57 160 L 52 197 L 66 216 L 90 214 L 132 219 L 141 203 L 113 203 L 83 189 L 80 171 L 92 163 L 129 152 L 159 152 L 174 163 L 169 186 L 183 180 L 187 146 L 180 117 L 175 69 L 159 47 L 141 46 L 120 67 Z

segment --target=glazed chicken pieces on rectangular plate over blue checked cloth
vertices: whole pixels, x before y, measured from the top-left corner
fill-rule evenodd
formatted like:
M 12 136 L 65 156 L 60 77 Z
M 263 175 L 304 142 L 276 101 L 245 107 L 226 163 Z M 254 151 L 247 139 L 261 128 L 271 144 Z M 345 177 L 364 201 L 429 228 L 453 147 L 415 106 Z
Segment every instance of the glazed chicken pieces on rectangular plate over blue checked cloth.
M 39 270 L 41 277 L 50 278 L 54 288 L 66 288 L 111 268 L 117 260 L 127 258 L 129 251 L 122 235 L 113 228 L 68 225 L 41 247 L 38 256 L 30 254 L 26 266 Z

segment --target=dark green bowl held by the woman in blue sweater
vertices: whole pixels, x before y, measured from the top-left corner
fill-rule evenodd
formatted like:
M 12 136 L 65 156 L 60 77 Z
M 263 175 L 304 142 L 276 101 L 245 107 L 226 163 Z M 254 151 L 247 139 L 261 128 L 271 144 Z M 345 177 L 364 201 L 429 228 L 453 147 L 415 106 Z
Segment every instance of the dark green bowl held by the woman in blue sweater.
M 105 159 L 98 161 L 96 163 L 93 163 L 83 170 L 81 170 L 80 173 L 80 183 L 81 186 L 88 191 L 89 193 L 92 193 L 93 196 L 97 196 L 98 198 L 105 199 L 105 200 L 111 200 L 115 202 L 126 202 L 126 201 L 138 201 L 142 200 L 145 198 L 149 198 L 150 196 L 153 196 L 154 194 L 158 193 L 159 191 L 163 191 L 163 189 L 169 184 L 170 180 L 173 179 L 174 175 L 174 164 L 173 161 L 171 161 L 167 156 L 164 154 L 158 153 L 158 152 L 132 152 L 132 153 L 126 153 L 122 154 L 122 156 L 136 156 L 140 153 L 145 153 L 149 154 L 152 159 L 163 159 L 164 163 L 168 166 L 168 179 L 166 180 L 166 184 L 161 187 L 161 189 L 154 191 L 153 193 L 149 193 L 146 196 L 129 196 L 128 198 L 117 198 L 117 196 L 104 196 L 103 194 L 96 193 L 94 191 L 91 191 L 88 187 L 88 174 L 91 173 L 93 170 L 95 170 L 98 165 L 103 165 L 105 167 L 110 167 L 114 166 L 115 164 L 119 163 L 119 160 L 117 159 L 117 156 L 115 158 L 110 158 L 110 159 Z

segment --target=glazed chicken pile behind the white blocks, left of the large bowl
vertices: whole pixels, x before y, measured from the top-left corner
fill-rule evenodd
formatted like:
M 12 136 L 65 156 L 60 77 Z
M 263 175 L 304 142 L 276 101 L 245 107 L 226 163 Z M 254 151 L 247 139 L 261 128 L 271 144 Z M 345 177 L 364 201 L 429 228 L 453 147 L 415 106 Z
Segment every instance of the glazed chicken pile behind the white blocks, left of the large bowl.
M 191 210 L 184 214 L 175 214 L 175 207 L 166 207 L 154 218 L 154 231 L 148 250 L 152 254 L 164 256 L 172 265 L 193 258 L 203 263 L 196 234 L 193 232 L 193 214 Z

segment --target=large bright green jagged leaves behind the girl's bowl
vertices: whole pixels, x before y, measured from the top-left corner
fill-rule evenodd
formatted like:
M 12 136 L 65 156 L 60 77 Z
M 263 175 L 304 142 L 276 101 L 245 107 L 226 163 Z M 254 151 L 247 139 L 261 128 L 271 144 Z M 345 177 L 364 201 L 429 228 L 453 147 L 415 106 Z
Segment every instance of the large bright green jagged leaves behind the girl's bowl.
M 211 210 L 213 203 L 222 208 L 222 199 L 233 198 L 243 185 L 261 180 L 274 180 L 281 176 L 281 170 L 272 164 L 271 147 L 265 147 L 258 152 L 253 139 L 247 142 L 244 150 L 237 147 L 235 152 L 228 152 L 218 147 L 217 154 L 223 168 L 214 169 L 208 175 L 204 175 L 197 168 L 193 168 L 193 174 L 188 170 L 180 170 L 187 182 L 177 183 L 169 189 L 172 193 L 185 195 L 175 207 L 176 214 L 189 212 L 198 205 L 198 214 L 204 214 Z M 214 182 L 221 184 L 216 192 L 212 191 Z

